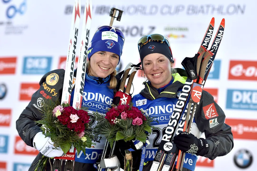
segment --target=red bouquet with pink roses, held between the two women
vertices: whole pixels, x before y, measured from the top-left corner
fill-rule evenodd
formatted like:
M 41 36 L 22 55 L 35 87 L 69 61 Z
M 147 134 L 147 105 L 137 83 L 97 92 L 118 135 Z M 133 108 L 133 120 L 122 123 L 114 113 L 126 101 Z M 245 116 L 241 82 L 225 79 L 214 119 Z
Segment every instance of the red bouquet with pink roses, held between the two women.
M 146 136 L 152 132 L 151 128 L 157 128 L 151 125 L 154 118 L 150 117 L 143 109 L 134 107 L 132 103 L 129 105 L 112 105 L 112 108 L 108 109 L 106 115 L 98 112 L 93 112 L 93 114 L 95 120 L 98 121 L 94 128 L 94 134 L 104 136 L 111 146 L 114 141 L 118 140 L 125 142 L 139 140 L 145 143 Z M 125 150 L 125 153 L 126 156 L 127 154 L 131 155 L 131 152 L 128 150 Z M 126 158 L 124 163 L 127 171 L 132 169 L 129 160 Z

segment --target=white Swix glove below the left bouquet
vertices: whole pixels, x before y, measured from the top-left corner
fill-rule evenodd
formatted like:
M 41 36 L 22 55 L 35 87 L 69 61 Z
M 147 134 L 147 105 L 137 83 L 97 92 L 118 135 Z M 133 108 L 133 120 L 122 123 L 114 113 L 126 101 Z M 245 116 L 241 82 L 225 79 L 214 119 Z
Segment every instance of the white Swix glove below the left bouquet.
M 33 139 L 33 147 L 47 157 L 60 157 L 64 153 L 61 148 L 53 147 L 53 142 L 50 137 L 46 137 L 43 132 L 38 132 Z

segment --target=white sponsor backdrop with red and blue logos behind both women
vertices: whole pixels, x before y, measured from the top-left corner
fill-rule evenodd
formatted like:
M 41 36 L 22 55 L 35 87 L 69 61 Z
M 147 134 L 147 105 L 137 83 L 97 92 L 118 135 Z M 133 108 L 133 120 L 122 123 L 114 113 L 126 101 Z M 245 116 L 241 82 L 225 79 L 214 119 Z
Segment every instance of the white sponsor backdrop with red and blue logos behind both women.
M 44 73 L 65 68 L 73 0 L 0 0 L 0 170 L 25 171 L 38 151 L 27 146 L 16 131 L 16 120 L 39 88 Z M 81 0 L 81 15 L 85 0 Z M 198 157 L 197 171 L 255 170 L 257 167 L 256 1 L 93 1 L 91 38 L 98 26 L 108 25 L 111 7 L 123 10 L 120 22 L 125 44 L 120 65 L 140 61 L 141 35 L 160 33 L 170 40 L 175 67 L 199 49 L 206 28 L 215 17 L 214 33 L 225 18 L 224 38 L 205 90 L 226 114 L 234 148 L 226 156 Z M 80 21 L 80 29 L 82 21 Z M 78 38 L 80 39 L 81 31 Z M 77 49 L 78 50 L 78 49 Z M 78 52 L 77 52 L 78 53 Z M 76 66 L 75 66 L 76 67 Z M 136 74 L 137 94 L 144 78 Z M 46 90 L 47 91 L 47 90 Z M 42 96 L 50 98 L 42 91 Z M 38 107 L 40 103 L 35 104 Z M 215 123 L 215 120 L 212 121 Z M 211 127 L 211 124 L 210 124 Z M 204 137 L 204 134 L 202 135 Z

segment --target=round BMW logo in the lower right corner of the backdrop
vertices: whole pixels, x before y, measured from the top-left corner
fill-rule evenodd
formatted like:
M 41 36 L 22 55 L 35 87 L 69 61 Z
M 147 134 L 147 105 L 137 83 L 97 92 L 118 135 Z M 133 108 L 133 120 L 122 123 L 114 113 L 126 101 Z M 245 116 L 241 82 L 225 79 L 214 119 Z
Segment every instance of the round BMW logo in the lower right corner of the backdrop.
M 234 163 L 237 167 L 245 169 L 251 166 L 253 162 L 253 155 L 246 149 L 241 149 L 234 155 Z

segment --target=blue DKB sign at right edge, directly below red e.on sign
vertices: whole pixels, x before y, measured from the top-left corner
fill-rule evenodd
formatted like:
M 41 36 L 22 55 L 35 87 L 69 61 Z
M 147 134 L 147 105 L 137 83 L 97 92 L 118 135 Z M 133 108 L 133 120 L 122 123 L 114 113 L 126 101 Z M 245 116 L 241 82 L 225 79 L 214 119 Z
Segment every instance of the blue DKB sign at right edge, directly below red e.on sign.
M 257 91 L 227 90 L 227 109 L 257 109 Z

